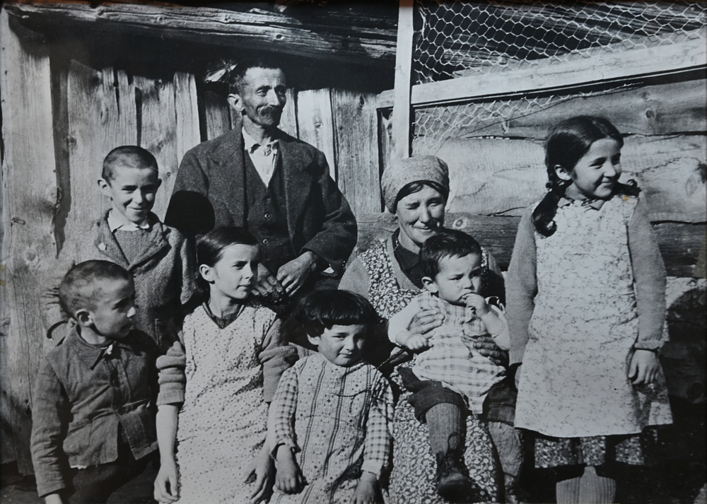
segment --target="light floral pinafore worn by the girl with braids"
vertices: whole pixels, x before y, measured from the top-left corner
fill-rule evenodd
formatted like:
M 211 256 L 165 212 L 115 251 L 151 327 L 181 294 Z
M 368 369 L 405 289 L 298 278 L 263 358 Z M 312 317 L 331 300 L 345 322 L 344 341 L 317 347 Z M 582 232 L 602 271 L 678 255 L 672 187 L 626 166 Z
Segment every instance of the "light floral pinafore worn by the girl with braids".
M 597 210 L 557 209 L 556 232 L 535 233 L 537 295 L 515 425 L 557 438 L 640 433 L 672 421 L 662 373 L 626 376 L 638 336 L 628 223 L 635 198 Z

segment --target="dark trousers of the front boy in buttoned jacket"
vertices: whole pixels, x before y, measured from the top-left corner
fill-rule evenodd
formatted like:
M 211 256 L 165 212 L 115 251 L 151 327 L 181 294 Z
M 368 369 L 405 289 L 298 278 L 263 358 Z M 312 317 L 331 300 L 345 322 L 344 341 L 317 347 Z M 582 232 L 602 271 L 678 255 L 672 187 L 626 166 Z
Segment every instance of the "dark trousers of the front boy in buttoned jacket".
M 154 483 L 159 470 L 158 452 L 136 460 L 120 443 L 115 462 L 71 469 L 75 491 L 71 504 L 143 504 L 155 502 Z

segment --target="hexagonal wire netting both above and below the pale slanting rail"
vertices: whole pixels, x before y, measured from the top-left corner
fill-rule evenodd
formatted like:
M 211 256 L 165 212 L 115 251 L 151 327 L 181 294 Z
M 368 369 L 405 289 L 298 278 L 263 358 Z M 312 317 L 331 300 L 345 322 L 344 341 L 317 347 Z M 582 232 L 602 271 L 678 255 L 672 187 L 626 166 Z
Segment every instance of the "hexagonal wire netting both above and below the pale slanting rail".
M 417 0 L 413 81 L 430 83 L 588 59 L 597 52 L 705 38 L 707 2 Z M 510 76 L 511 74 L 508 74 Z M 560 94 L 525 93 L 414 107 L 413 151 L 437 153 L 448 139 L 503 136 L 513 119 L 575 98 L 634 84 Z

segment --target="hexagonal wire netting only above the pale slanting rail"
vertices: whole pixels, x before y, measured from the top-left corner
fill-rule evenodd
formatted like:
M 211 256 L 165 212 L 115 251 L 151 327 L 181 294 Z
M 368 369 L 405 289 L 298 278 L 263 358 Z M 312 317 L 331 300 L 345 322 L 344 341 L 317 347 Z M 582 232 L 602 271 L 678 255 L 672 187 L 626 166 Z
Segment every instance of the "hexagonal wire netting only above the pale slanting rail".
M 706 2 L 418 0 L 414 83 L 699 36 Z

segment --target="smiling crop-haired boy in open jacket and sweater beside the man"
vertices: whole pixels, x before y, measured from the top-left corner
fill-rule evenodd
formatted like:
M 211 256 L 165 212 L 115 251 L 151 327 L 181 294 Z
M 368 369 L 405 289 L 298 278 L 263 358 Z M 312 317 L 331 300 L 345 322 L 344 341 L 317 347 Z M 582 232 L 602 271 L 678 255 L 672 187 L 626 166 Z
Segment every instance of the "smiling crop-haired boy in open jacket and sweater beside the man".
M 194 250 L 182 233 L 151 212 L 161 182 L 157 160 L 144 148 L 122 146 L 110 151 L 98 187 L 110 198 L 111 208 L 83 238 L 81 259 L 107 259 L 132 274 L 135 326 L 166 351 L 177 337 L 182 305 L 194 292 Z M 58 283 L 45 293 L 48 327 L 63 319 Z

